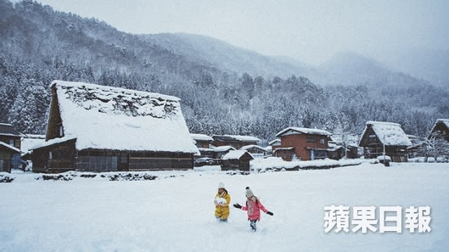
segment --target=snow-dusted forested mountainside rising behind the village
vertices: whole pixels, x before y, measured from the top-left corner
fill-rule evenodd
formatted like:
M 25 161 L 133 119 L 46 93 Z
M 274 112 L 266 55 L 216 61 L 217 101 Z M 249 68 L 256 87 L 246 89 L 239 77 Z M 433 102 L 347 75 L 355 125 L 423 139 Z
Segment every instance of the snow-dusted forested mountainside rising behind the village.
M 361 134 L 367 120 L 382 120 L 425 137 L 436 118 L 449 118 L 448 53 L 402 59 L 387 66 L 342 52 L 311 66 L 207 36 L 127 34 L 33 1 L 0 0 L 0 122 L 45 133 L 48 85 L 62 79 L 180 97 L 194 133 L 269 141 L 288 126 Z

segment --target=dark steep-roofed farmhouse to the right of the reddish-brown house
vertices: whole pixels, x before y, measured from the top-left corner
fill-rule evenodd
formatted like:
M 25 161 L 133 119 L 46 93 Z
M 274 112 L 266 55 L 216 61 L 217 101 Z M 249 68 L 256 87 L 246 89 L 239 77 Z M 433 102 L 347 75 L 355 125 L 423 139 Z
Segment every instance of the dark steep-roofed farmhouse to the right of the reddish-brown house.
M 407 148 L 412 142 L 398 123 L 368 121 L 358 146 L 363 148 L 365 158 L 384 155 L 385 148 L 392 162 L 407 162 Z

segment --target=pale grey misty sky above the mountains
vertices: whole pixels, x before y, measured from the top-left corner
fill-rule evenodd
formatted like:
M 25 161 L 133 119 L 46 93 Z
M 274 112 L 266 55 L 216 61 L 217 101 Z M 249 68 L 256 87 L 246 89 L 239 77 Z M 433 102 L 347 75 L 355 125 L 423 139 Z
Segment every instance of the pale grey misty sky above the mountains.
M 37 1 L 133 34 L 203 34 L 310 64 L 347 50 L 381 62 L 413 48 L 449 50 L 449 0 Z

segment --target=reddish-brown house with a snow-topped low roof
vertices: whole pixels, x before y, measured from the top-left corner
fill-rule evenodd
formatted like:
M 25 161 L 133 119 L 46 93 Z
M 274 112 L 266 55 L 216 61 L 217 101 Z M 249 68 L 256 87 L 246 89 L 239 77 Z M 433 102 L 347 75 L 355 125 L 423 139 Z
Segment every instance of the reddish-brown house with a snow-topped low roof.
M 273 155 L 286 161 L 327 158 L 328 136 L 330 132 L 326 130 L 288 127 L 276 134 L 281 145 L 276 147 Z

